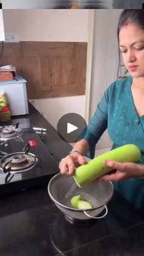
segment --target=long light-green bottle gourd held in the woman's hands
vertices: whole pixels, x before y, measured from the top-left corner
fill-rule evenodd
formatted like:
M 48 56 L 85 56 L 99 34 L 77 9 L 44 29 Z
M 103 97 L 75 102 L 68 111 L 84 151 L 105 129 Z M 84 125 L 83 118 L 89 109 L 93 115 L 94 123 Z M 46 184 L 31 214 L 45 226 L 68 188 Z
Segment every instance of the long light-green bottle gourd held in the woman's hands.
M 134 144 L 127 144 L 110 150 L 109 152 L 90 160 L 87 164 L 77 167 L 74 171 L 73 178 L 77 185 L 82 187 L 113 170 L 112 167 L 104 165 L 104 160 L 109 159 L 120 163 L 136 163 L 140 158 L 141 153 L 139 147 Z

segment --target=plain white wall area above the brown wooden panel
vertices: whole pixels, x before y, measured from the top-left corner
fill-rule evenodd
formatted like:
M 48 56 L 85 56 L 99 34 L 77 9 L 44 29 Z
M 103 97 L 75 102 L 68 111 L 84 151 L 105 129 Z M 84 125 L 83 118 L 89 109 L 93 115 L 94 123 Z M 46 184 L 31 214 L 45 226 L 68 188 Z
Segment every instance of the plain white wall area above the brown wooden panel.
M 20 41 L 87 42 L 88 10 L 3 10 L 5 32 Z

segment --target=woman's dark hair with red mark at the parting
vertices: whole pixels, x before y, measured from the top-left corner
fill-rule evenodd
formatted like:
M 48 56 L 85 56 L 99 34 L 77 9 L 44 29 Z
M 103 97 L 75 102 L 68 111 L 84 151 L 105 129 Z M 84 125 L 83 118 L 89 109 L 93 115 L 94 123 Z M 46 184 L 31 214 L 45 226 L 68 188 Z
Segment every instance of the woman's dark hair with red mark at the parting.
M 123 10 L 120 14 L 120 18 L 118 21 L 117 27 L 117 37 L 119 42 L 119 34 L 120 29 L 126 23 L 126 21 L 131 21 L 135 25 L 139 26 L 141 29 L 144 30 L 144 10 L 142 9 L 126 9 Z

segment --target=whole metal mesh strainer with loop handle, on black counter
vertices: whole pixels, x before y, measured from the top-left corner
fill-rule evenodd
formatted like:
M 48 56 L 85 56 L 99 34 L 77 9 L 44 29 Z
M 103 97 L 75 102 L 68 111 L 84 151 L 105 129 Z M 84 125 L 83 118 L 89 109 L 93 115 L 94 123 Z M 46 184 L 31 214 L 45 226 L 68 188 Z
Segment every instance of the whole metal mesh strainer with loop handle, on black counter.
M 111 181 L 101 181 L 79 188 L 73 177 L 56 174 L 49 181 L 48 193 L 57 208 L 67 215 L 67 218 L 73 221 L 88 221 L 91 218 L 99 219 L 106 216 L 106 205 L 113 196 L 113 185 Z M 79 210 L 72 207 L 70 200 L 78 195 L 89 201 L 93 208 Z M 106 213 L 103 216 L 98 216 L 104 208 L 106 208 Z

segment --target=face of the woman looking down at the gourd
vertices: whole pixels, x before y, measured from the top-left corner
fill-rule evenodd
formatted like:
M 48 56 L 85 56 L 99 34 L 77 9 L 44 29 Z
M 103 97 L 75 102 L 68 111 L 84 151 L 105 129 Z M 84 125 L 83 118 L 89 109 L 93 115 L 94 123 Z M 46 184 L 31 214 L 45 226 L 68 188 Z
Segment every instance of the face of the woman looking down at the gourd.
M 144 77 L 144 30 L 128 22 L 121 27 L 119 40 L 123 62 L 131 76 Z

